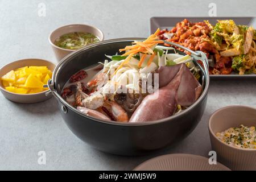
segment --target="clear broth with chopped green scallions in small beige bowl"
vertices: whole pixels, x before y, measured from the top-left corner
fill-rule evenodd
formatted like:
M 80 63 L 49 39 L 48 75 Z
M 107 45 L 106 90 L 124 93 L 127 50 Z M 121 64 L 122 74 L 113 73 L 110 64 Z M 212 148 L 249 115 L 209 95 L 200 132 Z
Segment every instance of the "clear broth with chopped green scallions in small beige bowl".
M 61 35 L 54 44 L 64 49 L 79 49 L 92 43 L 100 42 L 97 36 L 87 32 L 71 32 Z

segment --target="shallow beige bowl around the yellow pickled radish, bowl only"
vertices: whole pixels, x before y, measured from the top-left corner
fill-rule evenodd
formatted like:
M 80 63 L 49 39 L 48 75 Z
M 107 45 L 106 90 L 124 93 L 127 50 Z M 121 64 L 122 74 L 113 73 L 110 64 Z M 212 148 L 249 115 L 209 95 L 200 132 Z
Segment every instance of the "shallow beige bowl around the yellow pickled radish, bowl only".
M 23 59 L 23 60 L 18 60 L 14 61 L 12 63 L 9 63 L 5 66 L 3 66 L 0 69 L 0 77 L 5 75 L 6 73 L 10 72 L 13 69 L 18 69 L 21 67 L 26 67 L 26 66 L 46 66 L 48 69 L 50 69 L 52 72 L 54 68 L 56 67 L 55 64 L 47 61 L 47 60 L 42 60 L 42 59 Z M 2 85 L 2 81 L 0 80 L 0 89 L 3 94 L 7 99 L 13 102 L 18 102 L 22 104 L 32 104 L 36 102 L 41 102 L 45 101 L 49 98 L 51 98 L 50 95 L 46 96 L 46 93 L 49 92 L 49 90 L 46 90 L 44 92 L 40 93 L 33 93 L 33 94 L 18 94 L 18 93 L 13 93 L 5 90 Z

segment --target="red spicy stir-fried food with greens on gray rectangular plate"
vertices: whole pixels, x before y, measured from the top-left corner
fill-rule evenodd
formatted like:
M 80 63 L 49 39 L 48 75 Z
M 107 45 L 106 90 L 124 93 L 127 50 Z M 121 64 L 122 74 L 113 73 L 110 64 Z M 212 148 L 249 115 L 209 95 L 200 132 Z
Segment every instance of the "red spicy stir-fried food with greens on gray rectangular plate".
M 193 51 L 203 51 L 209 58 L 213 75 L 256 73 L 256 30 L 237 25 L 233 20 L 218 20 L 215 26 L 208 20 L 176 24 L 172 30 L 162 30 L 159 39 L 181 44 Z

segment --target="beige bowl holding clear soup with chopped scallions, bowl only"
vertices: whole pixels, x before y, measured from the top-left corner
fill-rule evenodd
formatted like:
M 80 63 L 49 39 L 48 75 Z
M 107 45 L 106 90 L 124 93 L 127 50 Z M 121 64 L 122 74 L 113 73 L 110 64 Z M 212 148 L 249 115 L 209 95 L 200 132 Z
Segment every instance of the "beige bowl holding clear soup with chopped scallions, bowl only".
M 68 24 L 66 26 L 59 27 L 55 31 L 51 32 L 51 34 L 49 35 L 49 43 L 52 46 L 57 61 L 60 61 L 69 53 L 76 51 L 71 49 L 60 48 L 54 44 L 55 40 L 59 38 L 61 35 L 68 34 L 71 32 L 88 32 L 90 34 L 97 36 L 97 38 L 100 39 L 100 41 L 104 40 L 104 34 L 100 29 L 93 26 L 89 26 L 87 24 Z

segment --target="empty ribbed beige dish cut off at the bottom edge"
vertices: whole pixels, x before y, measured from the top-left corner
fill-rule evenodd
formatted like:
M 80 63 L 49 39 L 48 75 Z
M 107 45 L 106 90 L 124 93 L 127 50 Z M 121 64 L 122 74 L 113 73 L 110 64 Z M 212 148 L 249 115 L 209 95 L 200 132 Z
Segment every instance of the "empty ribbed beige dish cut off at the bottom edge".
M 168 154 L 147 160 L 134 169 L 135 171 L 230 171 L 217 163 L 209 164 L 209 159 L 192 154 Z

